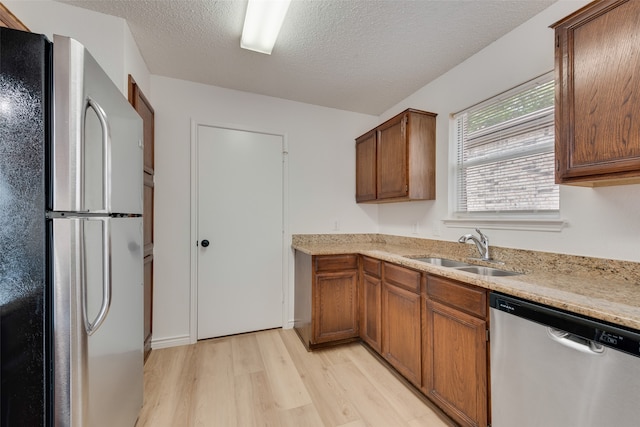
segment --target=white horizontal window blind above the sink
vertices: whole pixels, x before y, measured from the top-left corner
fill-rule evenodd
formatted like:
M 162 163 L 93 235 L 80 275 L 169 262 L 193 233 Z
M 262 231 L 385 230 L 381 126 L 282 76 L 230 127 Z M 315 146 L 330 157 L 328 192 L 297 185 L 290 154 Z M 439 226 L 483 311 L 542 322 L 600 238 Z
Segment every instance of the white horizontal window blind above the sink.
M 454 115 L 456 213 L 557 212 L 548 73 Z

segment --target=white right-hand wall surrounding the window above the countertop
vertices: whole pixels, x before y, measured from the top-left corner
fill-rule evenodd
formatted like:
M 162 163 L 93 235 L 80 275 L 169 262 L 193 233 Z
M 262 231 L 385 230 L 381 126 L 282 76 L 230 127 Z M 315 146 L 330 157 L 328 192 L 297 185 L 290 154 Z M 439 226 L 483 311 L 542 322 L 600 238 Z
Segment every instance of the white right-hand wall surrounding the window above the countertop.
M 469 231 L 441 224 L 449 217 L 450 114 L 552 70 L 554 34 L 549 25 L 585 3 L 555 3 L 380 117 L 407 107 L 438 113 L 436 200 L 380 205 L 380 233 L 455 241 Z M 640 185 L 561 186 L 560 210 L 568 223 L 560 232 L 489 229 L 487 234 L 497 246 L 640 261 Z

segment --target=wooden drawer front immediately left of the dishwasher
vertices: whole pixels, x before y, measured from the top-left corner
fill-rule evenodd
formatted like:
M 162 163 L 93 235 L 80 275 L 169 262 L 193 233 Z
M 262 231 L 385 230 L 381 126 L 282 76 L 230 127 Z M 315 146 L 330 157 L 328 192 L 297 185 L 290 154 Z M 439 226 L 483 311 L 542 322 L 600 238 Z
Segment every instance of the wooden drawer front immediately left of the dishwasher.
M 430 299 L 466 311 L 469 314 L 487 317 L 487 291 L 475 286 L 437 276 L 428 276 L 427 295 Z

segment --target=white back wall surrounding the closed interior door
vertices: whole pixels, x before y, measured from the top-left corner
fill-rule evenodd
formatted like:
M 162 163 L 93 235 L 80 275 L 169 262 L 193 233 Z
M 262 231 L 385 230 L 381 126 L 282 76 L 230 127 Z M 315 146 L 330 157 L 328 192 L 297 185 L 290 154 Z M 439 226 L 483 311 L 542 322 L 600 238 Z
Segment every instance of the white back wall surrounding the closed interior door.
M 354 149 L 354 139 L 374 127 L 377 117 L 155 75 L 151 103 L 156 114 L 154 347 L 188 342 L 192 119 L 286 135 L 290 233 L 377 231 L 377 206 L 355 203 Z M 292 260 L 289 266 L 292 296 Z M 292 298 L 285 303 L 291 319 Z

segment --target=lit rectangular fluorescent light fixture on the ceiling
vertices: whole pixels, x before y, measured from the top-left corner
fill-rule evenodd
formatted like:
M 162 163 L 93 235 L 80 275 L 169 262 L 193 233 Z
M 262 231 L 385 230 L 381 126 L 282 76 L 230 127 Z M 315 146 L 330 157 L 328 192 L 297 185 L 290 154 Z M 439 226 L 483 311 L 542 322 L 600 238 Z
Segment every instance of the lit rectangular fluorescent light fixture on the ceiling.
M 240 47 L 271 55 L 291 0 L 249 0 Z

